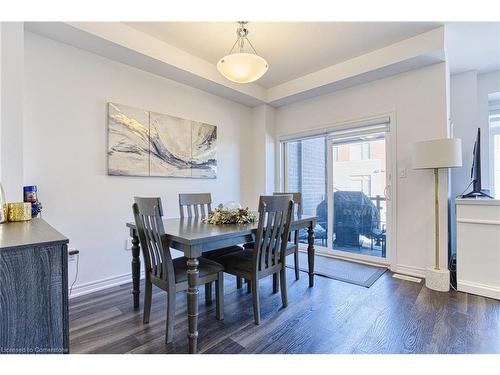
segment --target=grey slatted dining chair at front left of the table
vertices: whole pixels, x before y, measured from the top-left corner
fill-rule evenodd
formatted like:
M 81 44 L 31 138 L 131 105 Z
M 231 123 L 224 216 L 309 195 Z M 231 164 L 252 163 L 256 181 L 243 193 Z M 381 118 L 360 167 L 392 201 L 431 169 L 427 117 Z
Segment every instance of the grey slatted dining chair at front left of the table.
M 187 258 L 172 259 L 170 241 L 163 228 L 160 198 L 134 198 L 132 206 L 144 258 L 145 288 L 143 323 L 149 323 L 153 284 L 167 292 L 167 322 L 165 342 L 174 339 L 175 294 L 188 289 Z M 216 317 L 224 318 L 224 272 L 214 261 L 199 258 L 197 285 L 215 281 Z

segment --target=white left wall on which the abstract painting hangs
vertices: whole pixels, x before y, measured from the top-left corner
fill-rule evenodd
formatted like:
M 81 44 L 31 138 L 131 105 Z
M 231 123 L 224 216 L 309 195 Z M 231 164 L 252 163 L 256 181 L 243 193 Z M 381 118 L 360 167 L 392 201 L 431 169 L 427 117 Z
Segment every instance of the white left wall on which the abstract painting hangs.
M 178 217 L 180 192 L 240 199 L 250 108 L 31 33 L 25 61 L 24 183 L 38 185 L 44 219 L 80 250 L 77 285 L 130 272 L 133 196 L 161 196 L 167 217 Z M 217 179 L 108 176 L 108 101 L 216 124 Z

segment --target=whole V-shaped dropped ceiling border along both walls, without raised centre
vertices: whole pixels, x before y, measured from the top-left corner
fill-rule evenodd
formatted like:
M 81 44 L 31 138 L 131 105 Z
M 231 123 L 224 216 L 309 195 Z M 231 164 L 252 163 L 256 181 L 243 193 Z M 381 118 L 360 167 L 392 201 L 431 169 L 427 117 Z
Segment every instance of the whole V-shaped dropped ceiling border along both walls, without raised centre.
M 26 29 L 254 107 L 280 106 L 445 61 L 444 27 L 265 89 L 226 80 L 214 64 L 120 22 L 34 22 Z

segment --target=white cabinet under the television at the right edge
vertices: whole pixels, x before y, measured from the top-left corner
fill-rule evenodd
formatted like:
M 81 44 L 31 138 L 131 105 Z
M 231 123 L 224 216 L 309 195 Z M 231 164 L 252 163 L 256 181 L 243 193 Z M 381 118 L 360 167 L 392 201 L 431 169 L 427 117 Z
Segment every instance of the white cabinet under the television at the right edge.
M 457 287 L 500 299 L 500 200 L 457 199 Z

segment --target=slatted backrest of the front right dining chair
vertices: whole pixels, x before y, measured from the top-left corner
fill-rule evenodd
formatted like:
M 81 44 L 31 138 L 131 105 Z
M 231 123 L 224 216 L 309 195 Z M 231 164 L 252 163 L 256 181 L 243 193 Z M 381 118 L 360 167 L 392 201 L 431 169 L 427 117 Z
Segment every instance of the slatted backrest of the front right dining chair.
M 291 195 L 260 197 L 259 225 L 253 259 L 254 271 L 262 272 L 284 261 L 292 211 Z

